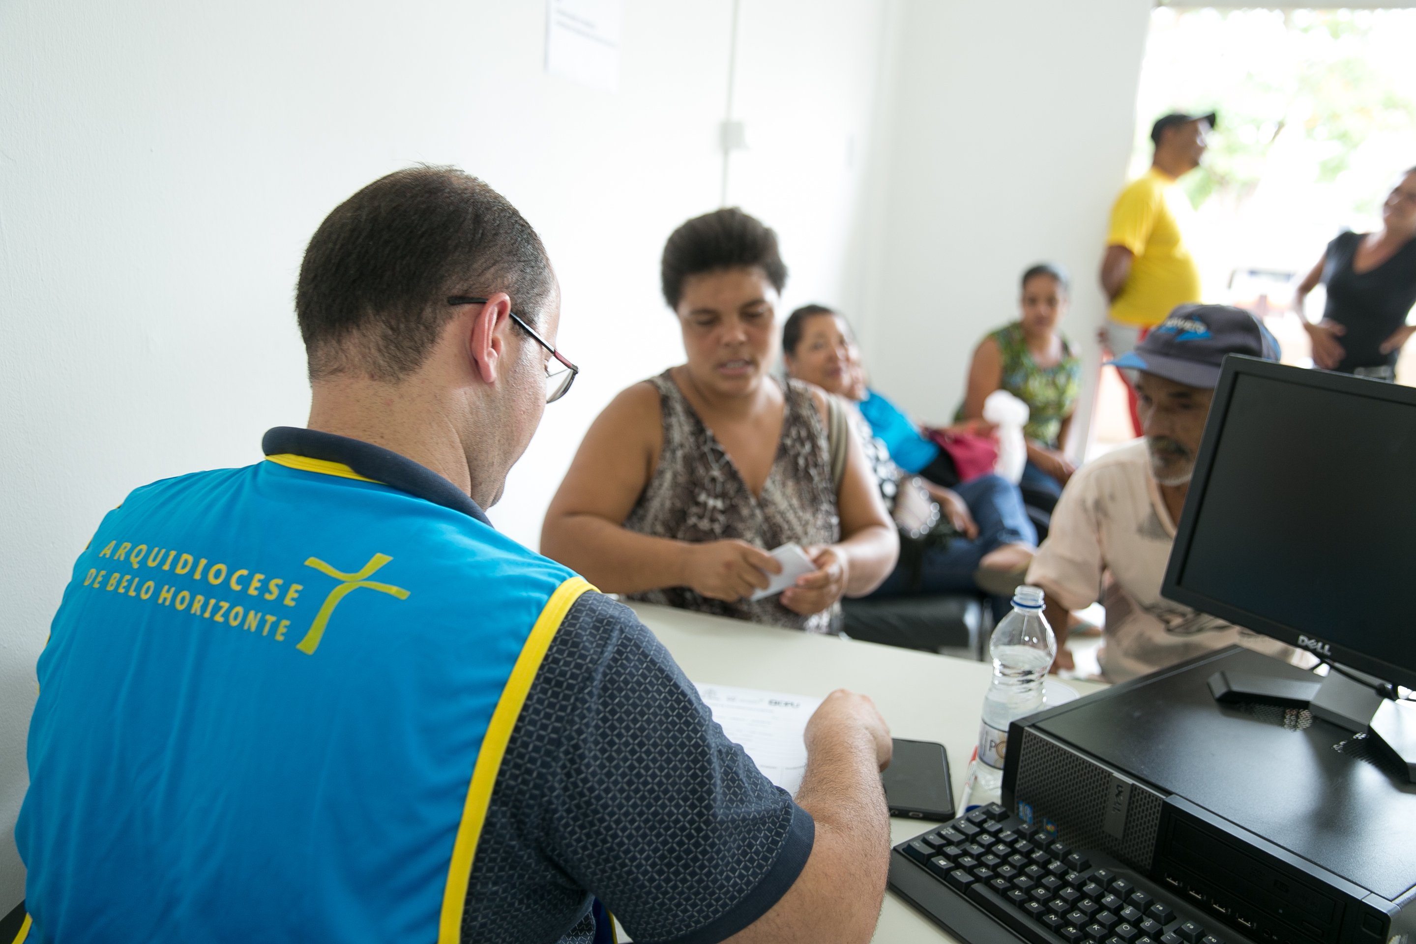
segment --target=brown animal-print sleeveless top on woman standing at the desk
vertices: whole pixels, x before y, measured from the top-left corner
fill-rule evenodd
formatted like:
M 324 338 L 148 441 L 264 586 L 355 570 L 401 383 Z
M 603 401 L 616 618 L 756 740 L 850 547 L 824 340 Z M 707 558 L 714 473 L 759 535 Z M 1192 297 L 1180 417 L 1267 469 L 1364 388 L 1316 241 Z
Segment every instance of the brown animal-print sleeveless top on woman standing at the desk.
M 783 393 L 782 440 L 762 487 L 753 495 L 736 466 L 718 444 L 670 371 L 649 381 L 658 391 L 664 418 L 664 447 L 654 477 L 624 519 L 639 534 L 675 541 L 738 538 L 765 551 L 794 541 L 806 548 L 840 541 L 831 459 L 826 426 L 807 385 L 789 379 Z M 709 600 L 690 587 L 636 593 L 632 600 L 663 603 L 681 610 L 731 616 L 807 633 L 830 633 L 840 603 L 824 613 L 799 616 L 777 597 L 756 603 Z

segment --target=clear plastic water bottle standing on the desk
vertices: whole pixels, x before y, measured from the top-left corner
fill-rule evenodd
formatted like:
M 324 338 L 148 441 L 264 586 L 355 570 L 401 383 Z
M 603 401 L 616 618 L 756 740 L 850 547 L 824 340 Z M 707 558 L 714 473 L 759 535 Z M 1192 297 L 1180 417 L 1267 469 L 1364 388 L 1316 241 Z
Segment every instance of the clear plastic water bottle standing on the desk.
M 969 761 L 964 812 L 998 802 L 1008 725 L 1042 708 L 1042 678 L 1056 652 L 1056 635 L 1042 616 L 1042 589 L 1018 587 L 1012 593 L 1012 613 L 998 623 L 988 640 L 993 685 L 983 699 L 978 747 Z

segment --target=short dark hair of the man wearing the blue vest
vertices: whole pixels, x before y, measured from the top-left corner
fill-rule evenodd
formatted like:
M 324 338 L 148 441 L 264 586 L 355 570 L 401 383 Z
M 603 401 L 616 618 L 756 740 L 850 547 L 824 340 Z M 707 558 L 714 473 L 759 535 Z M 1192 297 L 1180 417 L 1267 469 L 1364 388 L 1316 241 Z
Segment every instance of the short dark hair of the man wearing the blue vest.
M 300 263 L 295 311 L 310 379 L 418 369 L 453 317 L 453 294 L 506 292 L 532 324 L 555 287 L 551 259 L 506 197 L 456 167 L 375 180 L 324 218 Z

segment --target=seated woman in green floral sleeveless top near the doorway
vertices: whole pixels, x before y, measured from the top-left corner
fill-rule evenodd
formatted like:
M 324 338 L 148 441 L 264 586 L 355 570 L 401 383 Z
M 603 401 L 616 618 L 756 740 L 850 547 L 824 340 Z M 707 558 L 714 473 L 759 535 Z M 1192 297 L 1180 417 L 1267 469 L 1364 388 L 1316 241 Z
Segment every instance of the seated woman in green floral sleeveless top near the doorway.
M 1029 505 L 1048 512 L 1075 471 L 1063 450 L 1082 362 L 1058 331 L 1066 306 L 1068 279 L 1059 266 L 1041 263 L 1024 272 L 1022 318 L 978 344 L 959 410 L 961 419 L 981 418 L 983 402 L 994 391 L 1008 391 L 1028 405 L 1028 464 L 1018 487 Z

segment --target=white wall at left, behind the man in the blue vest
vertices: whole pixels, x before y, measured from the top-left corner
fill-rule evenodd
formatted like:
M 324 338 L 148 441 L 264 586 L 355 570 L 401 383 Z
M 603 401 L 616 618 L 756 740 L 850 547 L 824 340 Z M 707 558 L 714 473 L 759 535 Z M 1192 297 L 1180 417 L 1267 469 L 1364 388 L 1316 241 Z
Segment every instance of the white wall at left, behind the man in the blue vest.
M 886 3 L 743 3 L 752 150 L 729 201 L 780 229 L 789 300 L 861 300 Z M 718 205 L 731 0 L 624 7 L 603 93 L 544 74 L 537 0 L 0 4 L 0 913 L 23 893 L 10 832 L 68 568 L 135 485 L 253 461 L 266 427 L 303 423 L 290 299 L 338 201 L 452 163 L 545 239 L 583 369 L 493 511 L 521 541 L 593 415 L 680 357 L 658 253 Z

